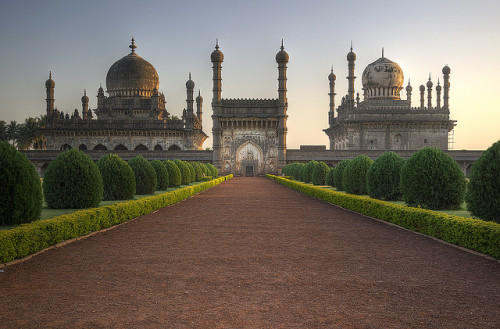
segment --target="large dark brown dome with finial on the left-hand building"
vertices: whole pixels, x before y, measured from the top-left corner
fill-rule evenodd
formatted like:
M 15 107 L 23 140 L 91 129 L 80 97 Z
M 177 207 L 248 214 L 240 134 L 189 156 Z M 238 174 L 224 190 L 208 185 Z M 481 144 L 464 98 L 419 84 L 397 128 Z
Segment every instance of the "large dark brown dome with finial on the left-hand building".
M 135 53 L 132 39 L 132 52 L 116 61 L 108 70 L 106 88 L 110 96 L 150 97 L 159 87 L 158 73 L 153 65 Z

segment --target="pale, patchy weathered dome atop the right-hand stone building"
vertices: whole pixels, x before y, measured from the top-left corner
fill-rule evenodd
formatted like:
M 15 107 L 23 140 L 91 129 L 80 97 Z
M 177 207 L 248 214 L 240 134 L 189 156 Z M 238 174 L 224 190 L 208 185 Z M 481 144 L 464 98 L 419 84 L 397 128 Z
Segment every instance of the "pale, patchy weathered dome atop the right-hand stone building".
M 403 70 L 398 63 L 382 56 L 365 68 L 362 82 L 368 98 L 400 99 Z

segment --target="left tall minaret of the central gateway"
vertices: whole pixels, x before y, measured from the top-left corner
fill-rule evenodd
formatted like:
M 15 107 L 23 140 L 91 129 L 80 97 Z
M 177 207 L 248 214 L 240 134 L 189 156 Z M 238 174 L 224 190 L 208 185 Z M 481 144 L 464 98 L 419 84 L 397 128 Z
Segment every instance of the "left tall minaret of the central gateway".
M 212 96 L 212 135 L 213 135 L 213 165 L 215 168 L 222 172 L 222 132 L 219 122 L 219 103 L 222 94 L 222 62 L 224 61 L 224 54 L 219 50 L 219 40 L 215 44 L 215 50 L 210 55 L 213 70 L 213 96 Z

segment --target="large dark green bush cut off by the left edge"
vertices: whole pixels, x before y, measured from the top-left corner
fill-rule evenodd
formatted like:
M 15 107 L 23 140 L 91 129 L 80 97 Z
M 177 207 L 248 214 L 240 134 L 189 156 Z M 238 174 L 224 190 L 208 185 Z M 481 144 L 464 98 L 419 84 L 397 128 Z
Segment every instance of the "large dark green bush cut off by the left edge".
M 12 145 L 0 142 L 0 225 L 40 219 L 42 203 L 35 166 Z

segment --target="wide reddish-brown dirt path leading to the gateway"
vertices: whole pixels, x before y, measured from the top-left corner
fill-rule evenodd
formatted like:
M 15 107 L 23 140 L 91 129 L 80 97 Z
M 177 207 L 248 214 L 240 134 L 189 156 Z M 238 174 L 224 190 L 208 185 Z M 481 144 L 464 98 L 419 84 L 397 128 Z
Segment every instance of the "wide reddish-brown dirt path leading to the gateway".
M 234 178 L 0 273 L 3 328 L 500 328 L 500 263 Z

